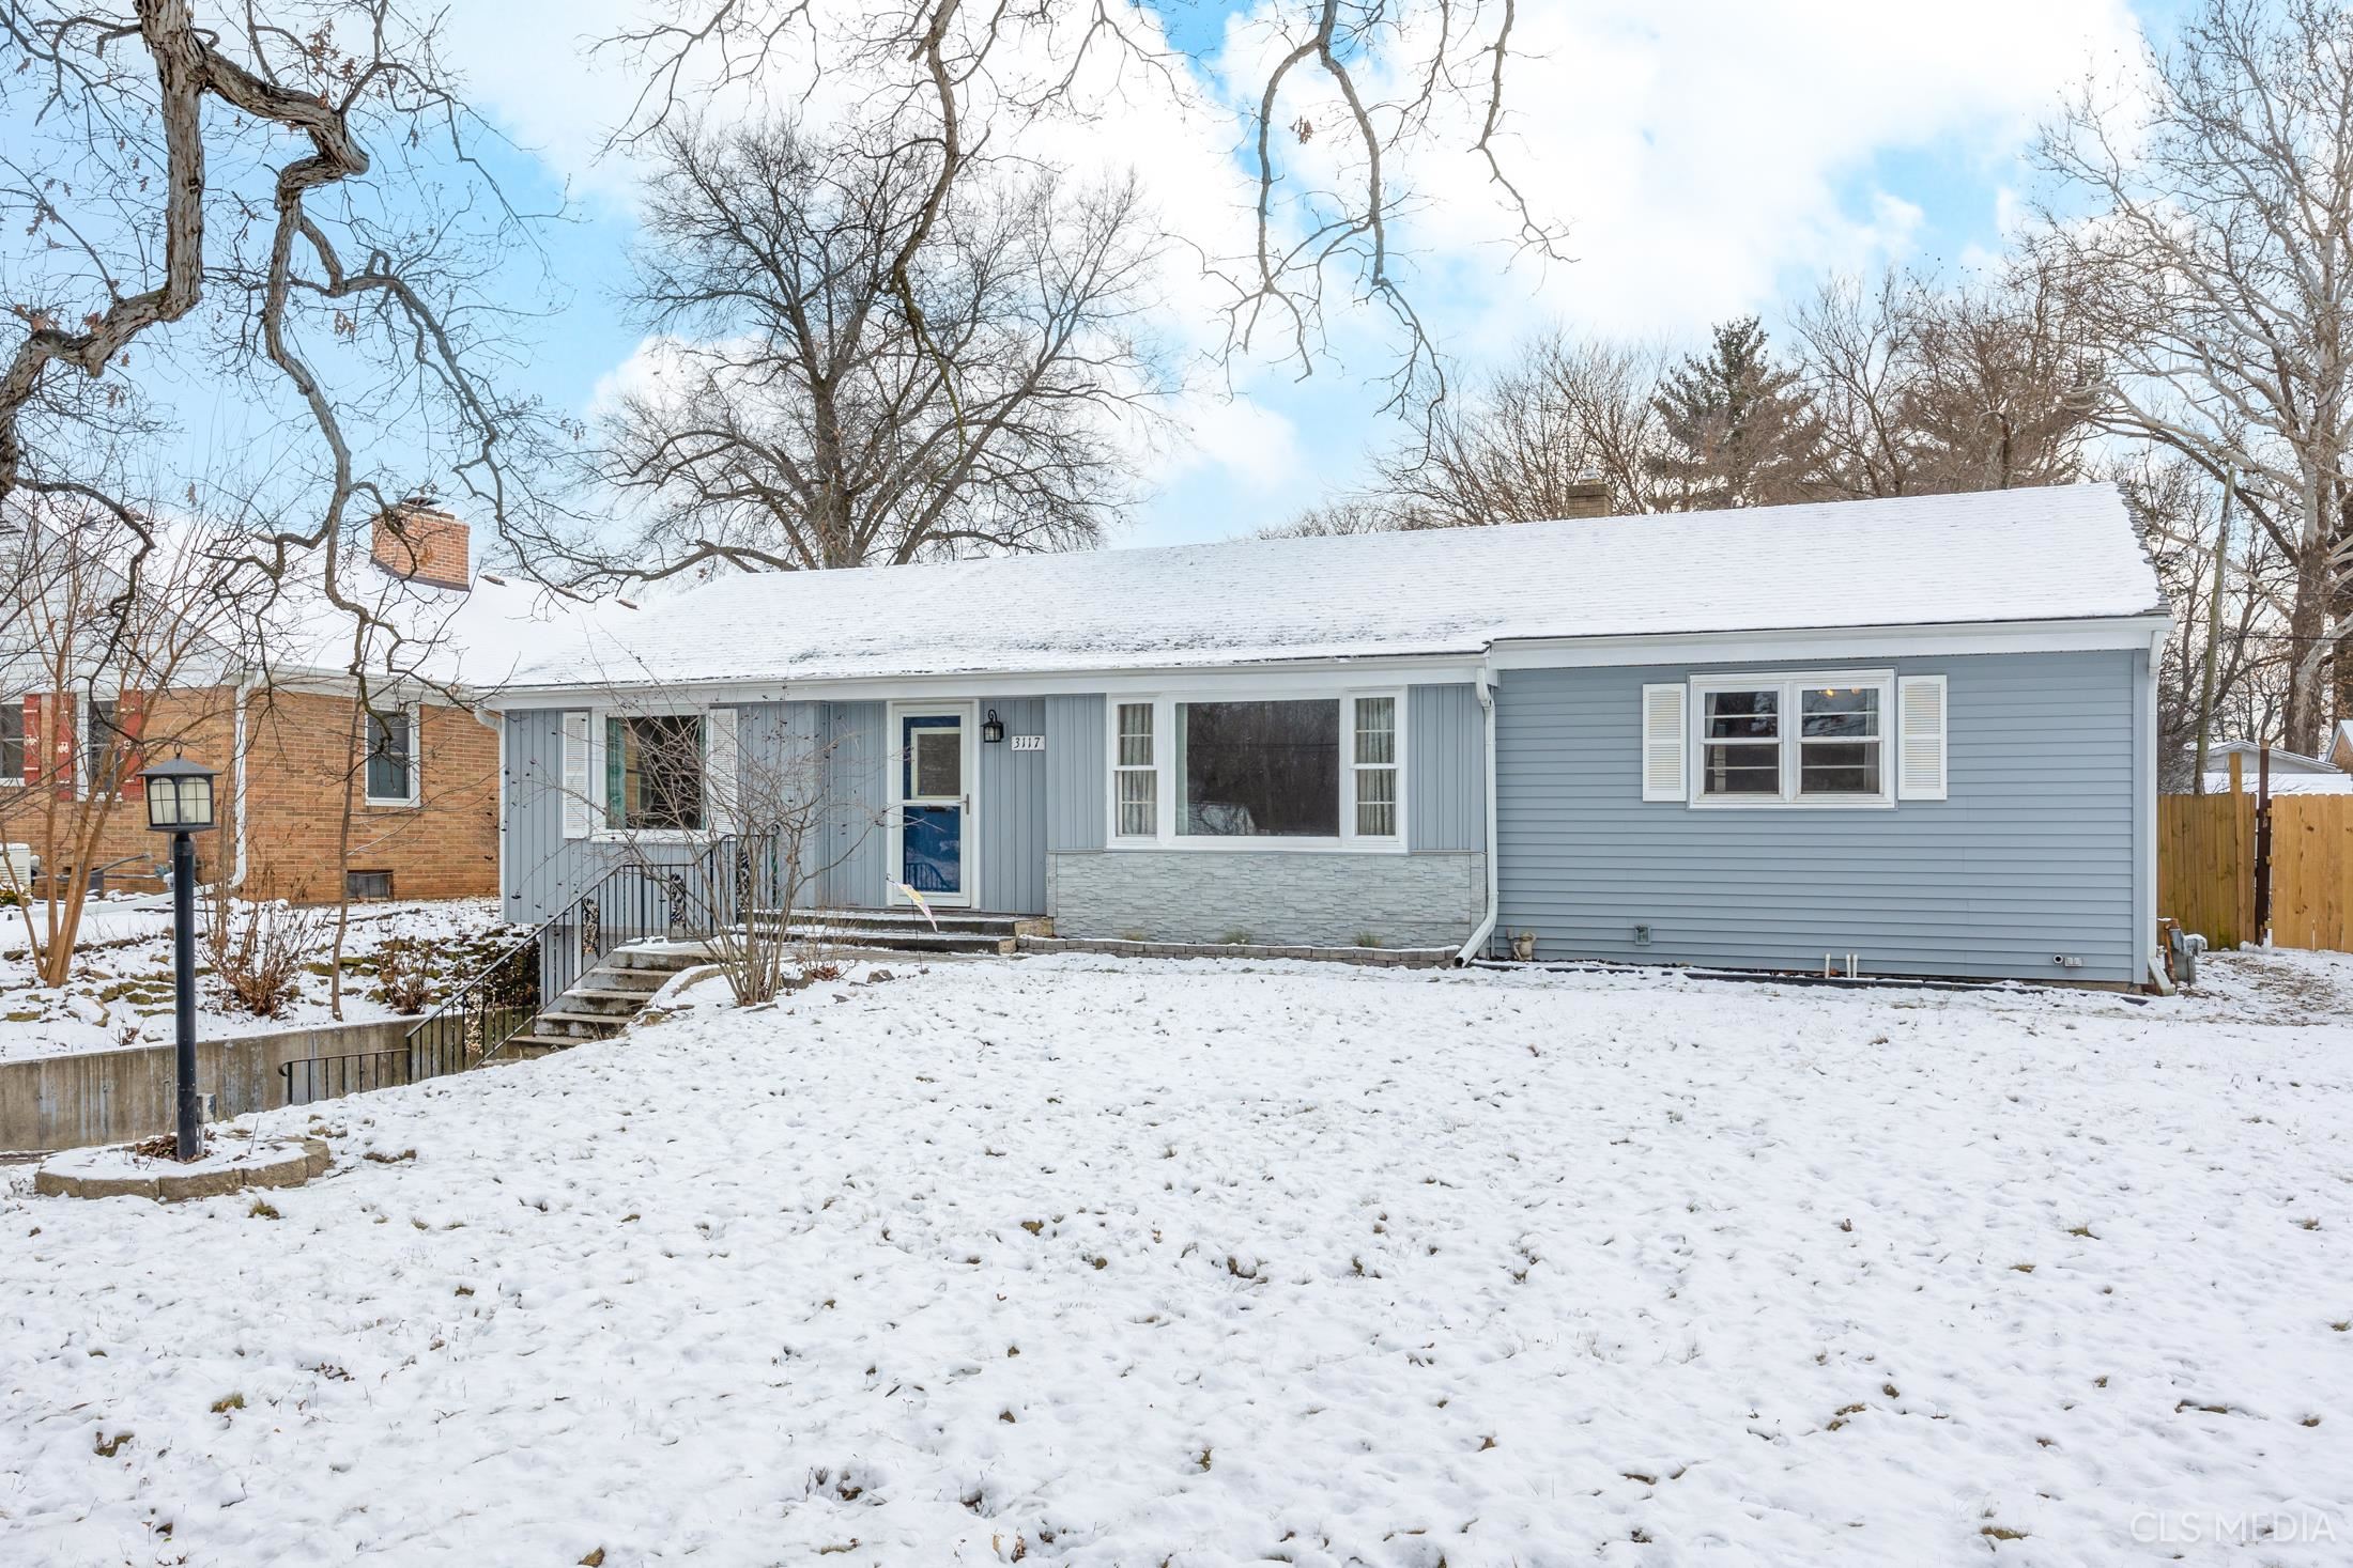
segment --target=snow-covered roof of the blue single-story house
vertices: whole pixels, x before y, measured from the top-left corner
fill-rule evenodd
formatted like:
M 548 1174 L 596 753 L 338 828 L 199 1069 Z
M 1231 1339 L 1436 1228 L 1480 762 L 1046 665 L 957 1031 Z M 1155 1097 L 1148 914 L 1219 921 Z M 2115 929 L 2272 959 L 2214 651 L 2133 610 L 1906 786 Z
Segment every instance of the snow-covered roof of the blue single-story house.
M 520 686 L 814 682 L 1421 654 L 1520 637 L 2162 611 L 2111 484 L 1494 529 L 1247 538 L 706 583 Z

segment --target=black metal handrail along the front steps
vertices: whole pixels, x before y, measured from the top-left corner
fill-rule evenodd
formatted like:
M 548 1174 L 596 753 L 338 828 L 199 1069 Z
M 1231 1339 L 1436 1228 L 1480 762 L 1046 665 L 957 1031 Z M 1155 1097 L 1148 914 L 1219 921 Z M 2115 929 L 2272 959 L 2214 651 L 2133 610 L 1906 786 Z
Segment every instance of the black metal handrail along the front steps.
M 400 1046 L 280 1067 L 287 1105 L 480 1067 L 614 947 L 656 938 L 699 940 L 739 924 L 776 900 L 781 870 L 774 839 L 736 835 L 675 865 L 616 865 L 442 997 Z M 393 1056 L 398 1067 L 379 1060 Z M 322 1091 L 322 1084 L 351 1088 Z M 294 1098 L 299 1088 L 301 1100 Z

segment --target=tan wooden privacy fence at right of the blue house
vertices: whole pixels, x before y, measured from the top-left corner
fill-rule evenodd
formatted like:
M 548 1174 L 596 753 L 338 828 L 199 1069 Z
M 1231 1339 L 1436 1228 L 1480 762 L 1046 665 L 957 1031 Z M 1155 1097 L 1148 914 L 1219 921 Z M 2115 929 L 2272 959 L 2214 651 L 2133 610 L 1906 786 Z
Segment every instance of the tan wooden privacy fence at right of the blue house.
M 2158 914 L 2217 947 L 2257 924 L 2254 795 L 2158 797 Z M 2271 940 L 2353 952 L 2353 795 L 2271 797 Z

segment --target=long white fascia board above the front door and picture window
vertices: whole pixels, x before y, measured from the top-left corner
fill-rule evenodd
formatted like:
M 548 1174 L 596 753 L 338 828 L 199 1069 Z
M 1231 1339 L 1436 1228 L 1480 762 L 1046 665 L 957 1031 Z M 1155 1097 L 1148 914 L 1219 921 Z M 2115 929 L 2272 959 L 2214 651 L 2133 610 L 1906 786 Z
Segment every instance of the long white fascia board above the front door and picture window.
M 485 708 L 593 708 L 619 696 L 694 703 L 927 703 L 948 698 L 1026 698 L 1061 693 L 1162 693 L 1184 689 L 1275 693 L 1287 689 L 1341 691 L 1355 686 L 1471 684 L 1480 661 L 1471 654 L 1417 658 L 1287 658 L 1249 665 L 1160 665 L 1151 670 L 1016 670 L 974 675 L 866 675 L 800 682 L 579 682 L 565 686 L 506 686 Z

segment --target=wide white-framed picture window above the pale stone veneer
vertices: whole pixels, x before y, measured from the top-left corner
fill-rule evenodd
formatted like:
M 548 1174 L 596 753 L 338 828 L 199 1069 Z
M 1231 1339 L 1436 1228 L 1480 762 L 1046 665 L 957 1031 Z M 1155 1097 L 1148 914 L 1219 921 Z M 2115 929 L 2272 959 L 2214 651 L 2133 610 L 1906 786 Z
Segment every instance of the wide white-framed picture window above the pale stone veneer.
M 1393 849 L 1405 832 L 1395 691 L 1111 698 L 1111 837 Z

